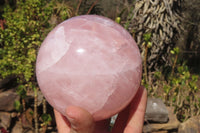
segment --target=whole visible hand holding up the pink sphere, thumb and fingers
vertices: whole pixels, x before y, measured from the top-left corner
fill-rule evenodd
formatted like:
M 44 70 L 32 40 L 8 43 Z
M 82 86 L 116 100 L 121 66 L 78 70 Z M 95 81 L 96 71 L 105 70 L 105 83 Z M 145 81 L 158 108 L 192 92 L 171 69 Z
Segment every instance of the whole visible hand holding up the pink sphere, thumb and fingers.
M 67 118 L 54 109 L 59 133 L 141 133 L 147 103 L 147 91 L 140 87 L 131 103 L 117 117 L 111 132 L 109 119 L 95 122 L 92 115 L 76 106 L 66 109 Z

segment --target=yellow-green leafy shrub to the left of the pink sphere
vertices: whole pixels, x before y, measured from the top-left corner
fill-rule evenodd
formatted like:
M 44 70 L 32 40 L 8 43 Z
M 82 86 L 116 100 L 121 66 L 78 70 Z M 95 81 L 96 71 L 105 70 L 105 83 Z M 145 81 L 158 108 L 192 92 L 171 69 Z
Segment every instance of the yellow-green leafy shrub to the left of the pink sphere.
M 20 1 L 16 10 L 7 6 L 3 17 L 6 28 L 1 30 L 0 72 L 1 77 L 17 75 L 18 82 L 28 83 L 34 75 L 36 50 L 43 39 L 42 33 L 51 10 L 39 0 Z

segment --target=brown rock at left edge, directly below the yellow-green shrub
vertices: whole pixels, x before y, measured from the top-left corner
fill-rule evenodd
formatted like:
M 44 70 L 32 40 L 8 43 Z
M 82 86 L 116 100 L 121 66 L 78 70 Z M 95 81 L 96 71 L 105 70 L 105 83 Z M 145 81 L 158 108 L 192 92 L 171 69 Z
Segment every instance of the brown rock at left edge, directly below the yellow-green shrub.
M 0 111 L 12 111 L 15 109 L 14 102 L 19 100 L 19 96 L 13 90 L 0 93 Z

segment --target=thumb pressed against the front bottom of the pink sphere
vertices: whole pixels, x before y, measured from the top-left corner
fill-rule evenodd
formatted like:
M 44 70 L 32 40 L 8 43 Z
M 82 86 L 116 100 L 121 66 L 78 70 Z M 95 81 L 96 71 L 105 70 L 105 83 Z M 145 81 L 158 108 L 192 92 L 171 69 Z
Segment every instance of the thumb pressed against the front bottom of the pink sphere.
M 88 111 L 70 106 L 66 109 L 66 115 L 71 124 L 70 133 L 93 133 L 95 124 Z

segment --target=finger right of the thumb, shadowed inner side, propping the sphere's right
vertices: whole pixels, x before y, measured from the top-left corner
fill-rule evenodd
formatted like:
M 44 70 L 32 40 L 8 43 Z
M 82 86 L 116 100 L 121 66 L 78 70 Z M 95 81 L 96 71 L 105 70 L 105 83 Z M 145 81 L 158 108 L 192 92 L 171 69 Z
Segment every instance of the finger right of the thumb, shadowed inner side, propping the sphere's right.
M 144 89 L 144 87 L 140 87 L 129 106 L 119 113 L 112 133 L 142 132 L 144 114 L 146 110 L 146 100 L 146 89 Z

